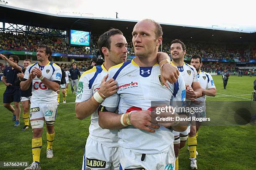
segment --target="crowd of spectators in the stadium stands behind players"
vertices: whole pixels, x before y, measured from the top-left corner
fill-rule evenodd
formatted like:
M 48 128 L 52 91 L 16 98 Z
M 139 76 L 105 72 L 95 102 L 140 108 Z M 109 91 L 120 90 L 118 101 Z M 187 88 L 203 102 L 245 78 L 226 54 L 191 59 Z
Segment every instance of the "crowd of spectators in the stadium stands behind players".
M 83 54 L 93 55 L 97 50 L 97 39 L 98 36 L 92 36 L 91 47 L 79 47 L 70 46 L 65 38 L 62 37 L 51 37 L 45 35 L 25 35 L 25 34 L 14 34 L 10 32 L 0 32 L 0 50 L 28 50 L 36 51 L 39 44 L 49 45 L 54 52 L 58 53 L 69 53 L 69 54 Z M 128 55 L 134 55 L 133 45 L 131 40 L 127 40 Z M 199 54 L 202 58 L 207 59 L 225 59 L 225 60 L 240 60 L 246 62 L 248 60 L 256 59 L 256 47 L 248 47 L 247 45 L 234 45 L 234 44 L 221 44 L 221 43 L 200 43 L 185 41 L 187 47 L 186 58 L 190 58 L 195 54 Z M 163 52 L 170 55 L 170 44 L 163 43 Z M 61 64 L 63 67 L 70 68 L 70 64 Z M 6 65 L 0 65 L 0 72 Z M 77 63 L 77 67 L 80 71 L 86 71 L 90 67 L 90 63 L 82 61 Z M 203 70 L 206 72 L 222 72 L 224 68 L 228 69 L 229 72 L 237 72 L 238 67 L 235 63 L 218 63 L 218 62 L 207 62 L 203 65 Z

